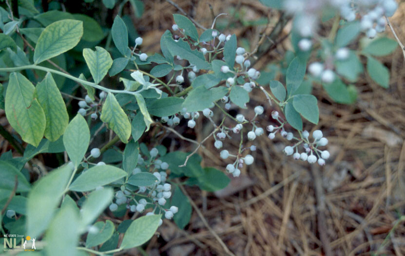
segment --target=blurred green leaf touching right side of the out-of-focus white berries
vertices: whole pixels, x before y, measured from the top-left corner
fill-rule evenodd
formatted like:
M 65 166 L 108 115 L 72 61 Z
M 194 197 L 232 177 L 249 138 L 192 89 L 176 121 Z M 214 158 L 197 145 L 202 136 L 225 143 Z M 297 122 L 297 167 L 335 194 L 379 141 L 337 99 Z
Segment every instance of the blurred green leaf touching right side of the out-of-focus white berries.
M 364 71 L 363 64 L 353 51 L 350 51 L 347 59 L 337 60 L 335 66 L 336 72 L 351 82 L 357 81 L 358 76 Z

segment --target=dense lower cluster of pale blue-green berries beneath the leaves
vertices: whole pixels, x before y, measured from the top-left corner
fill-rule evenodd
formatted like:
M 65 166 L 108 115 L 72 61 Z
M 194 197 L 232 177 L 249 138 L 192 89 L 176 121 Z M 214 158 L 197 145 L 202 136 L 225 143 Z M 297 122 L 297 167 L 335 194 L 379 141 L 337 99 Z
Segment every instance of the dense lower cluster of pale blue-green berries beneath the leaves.
M 150 186 L 140 186 L 137 191 L 130 191 L 127 186 L 122 185 L 121 189 L 116 192 L 115 202 L 109 206 L 111 211 L 116 211 L 118 209 L 118 205 L 126 203 L 127 209 L 129 209 L 131 212 L 139 213 L 142 213 L 145 210 L 145 207 L 148 205 L 154 206 L 154 211 L 147 213 L 147 216 L 155 213 L 160 214 L 163 212 L 166 219 L 172 219 L 174 214 L 178 212 L 178 208 L 174 205 L 169 207 L 169 209 L 164 208 L 166 201 L 172 197 L 172 185 L 170 183 L 166 183 L 166 170 L 169 168 L 169 164 L 162 162 L 160 159 L 156 159 L 158 154 L 159 152 L 157 148 L 152 148 L 149 151 L 150 159 L 148 159 L 148 162 L 145 162 L 140 155 L 138 156 L 139 166 L 145 165 L 145 167 L 149 168 L 153 164 L 153 170 L 155 171 L 152 174 L 156 178 L 156 182 Z M 148 165 L 148 163 L 150 164 Z M 161 170 L 160 172 L 158 171 L 159 169 Z M 136 175 L 141 172 L 142 169 L 140 167 L 135 167 L 132 174 Z M 145 198 L 136 200 L 135 195 Z M 147 201 L 146 198 L 149 200 Z M 159 226 L 161 224 L 162 220 L 160 220 Z

